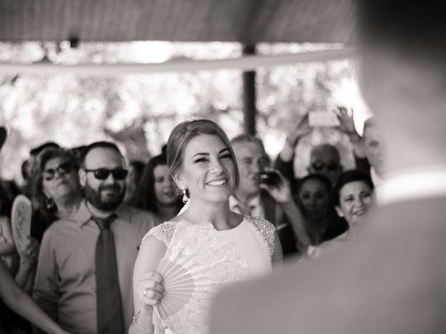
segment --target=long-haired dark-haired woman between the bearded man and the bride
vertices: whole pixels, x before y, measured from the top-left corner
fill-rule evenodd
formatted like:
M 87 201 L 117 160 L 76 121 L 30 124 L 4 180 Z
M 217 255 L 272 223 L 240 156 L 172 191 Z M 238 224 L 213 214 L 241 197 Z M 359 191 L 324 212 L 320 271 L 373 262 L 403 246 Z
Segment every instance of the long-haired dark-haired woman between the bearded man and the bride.
M 133 205 L 169 221 L 180 212 L 182 202 L 167 166 L 166 156 L 153 157 L 144 168 Z

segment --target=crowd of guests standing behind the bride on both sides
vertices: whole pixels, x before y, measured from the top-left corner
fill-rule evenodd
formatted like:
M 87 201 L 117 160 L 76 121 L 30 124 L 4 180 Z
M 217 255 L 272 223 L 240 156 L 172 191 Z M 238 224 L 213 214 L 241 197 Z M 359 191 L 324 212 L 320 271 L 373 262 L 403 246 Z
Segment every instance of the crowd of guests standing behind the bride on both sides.
M 339 129 L 350 138 L 362 170 L 344 171 L 337 148 L 323 143 L 312 148 L 307 175 L 295 177 L 295 146 L 313 129 L 308 115 L 298 119 L 276 161 L 270 160 L 256 136 L 240 134 L 225 143 L 238 173 L 237 186 L 226 199 L 229 208 L 240 216 L 269 221 L 279 240 L 280 258 L 314 257 L 329 244 L 353 238 L 372 205 L 370 174 L 379 180 L 383 169 L 376 124 L 368 120 L 361 138 L 353 116 L 343 108 L 337 114 Z M 25 183 L 20 189 L 6 191 L 5 185 L 1 192 L 0 251 L 14 278 L 10 281 L 24 295 L 33 296 L 63 330 L 93 333 L 98 328 L 98 333 L 111 333 L 112 327 L 129 328 L 134 315 L 132 272 L 141 239 L 160 223 L 195 207 L 191 187 L 181 188 L 174 180 L 166 146 L 144 163 L 127 162 L 114 143 L 72 149 L 45 143 L 31 150 L 22 175 Z M 33 205 L 31 235 L 21 249 L 15 248 L 9 219 L 17 193 L 31 198 Z M 108 254 L 102 257 L 109 258 L 111 252 L 114 256 L 102 263 L 100 252 Z M 2 299 L 10 310 L 30 319 L 8 298 Z M 6 305 L 1 307 L 2 314 L 10 315 L 2 317 L 4 331 L 31 331 L 24 319 Z

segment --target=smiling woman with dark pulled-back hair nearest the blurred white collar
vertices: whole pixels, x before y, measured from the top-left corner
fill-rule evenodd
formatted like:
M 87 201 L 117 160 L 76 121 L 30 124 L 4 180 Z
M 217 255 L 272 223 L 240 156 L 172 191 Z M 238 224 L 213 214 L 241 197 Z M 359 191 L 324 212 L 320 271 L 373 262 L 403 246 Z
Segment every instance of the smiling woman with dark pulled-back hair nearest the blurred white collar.
M 352 241 L 364 227 L 364 221 L 372 204 L 374 184 L 371 178 L 360 170 L 346 170 L 341 173 L 334 186 L 335 208 L 339 216 L 348 223 L 348 230 L 332 241 L 325 242 L 312 255 L 326 253 Z

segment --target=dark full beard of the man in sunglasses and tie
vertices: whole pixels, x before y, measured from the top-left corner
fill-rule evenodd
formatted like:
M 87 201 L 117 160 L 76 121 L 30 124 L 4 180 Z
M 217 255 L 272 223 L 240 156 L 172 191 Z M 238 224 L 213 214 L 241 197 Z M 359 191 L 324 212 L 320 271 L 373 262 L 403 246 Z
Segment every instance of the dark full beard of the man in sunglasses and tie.
M 105 190 L 114 191 L 113 196 L 102 198 L 101 193 Z M 121 187 L 119 184 L 102 184 L 96 191 L 88 182 L 85 184 L 85 198 L 93 207 L 102 211 L 114 211 L 118 209 L 119 205 L 124 200 L 125 196 L 125 184 Z

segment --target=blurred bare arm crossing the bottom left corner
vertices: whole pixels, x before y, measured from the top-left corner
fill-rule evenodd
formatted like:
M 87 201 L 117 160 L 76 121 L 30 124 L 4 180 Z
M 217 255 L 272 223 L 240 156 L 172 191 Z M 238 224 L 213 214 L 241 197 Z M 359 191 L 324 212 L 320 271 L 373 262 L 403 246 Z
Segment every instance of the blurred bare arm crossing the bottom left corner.
M 41 328 L 45 333 L 68 334 L 63 331 L 52 319 L 50 319 L 43 310 L 41 310 L 33 299 L 28 296 L 15 283 L 3 262 L 0 261 L 0 299 L 8 308 L 13 310 L 30 321 L 32 324 Z M 3 318 L 5 315 L 1 315 Z M 5 320 L 5 319 L 3 319 Z M 0 321 L 0 333 L 9 333 L 8 328 L 3 328 L 3 320 Z

